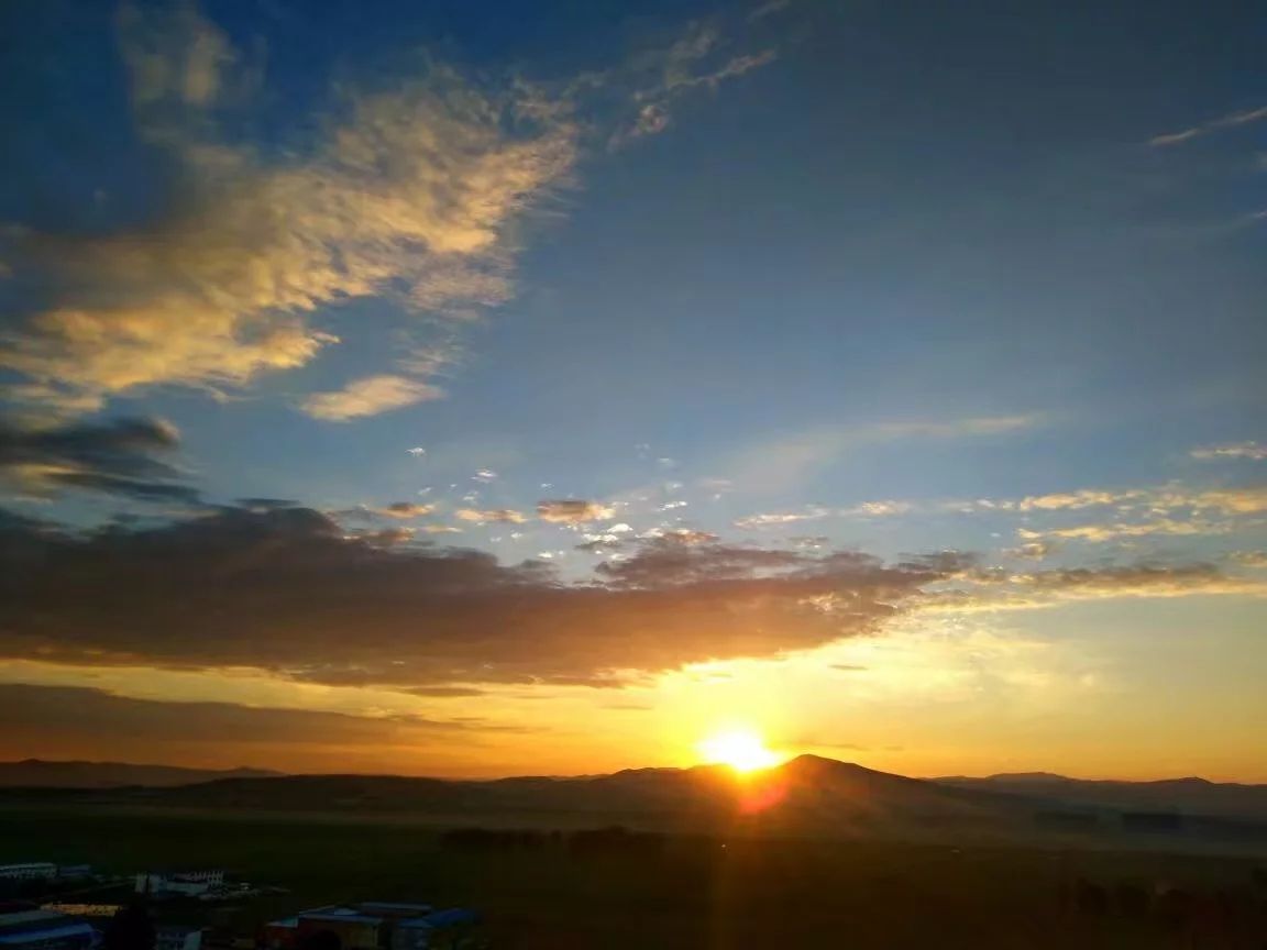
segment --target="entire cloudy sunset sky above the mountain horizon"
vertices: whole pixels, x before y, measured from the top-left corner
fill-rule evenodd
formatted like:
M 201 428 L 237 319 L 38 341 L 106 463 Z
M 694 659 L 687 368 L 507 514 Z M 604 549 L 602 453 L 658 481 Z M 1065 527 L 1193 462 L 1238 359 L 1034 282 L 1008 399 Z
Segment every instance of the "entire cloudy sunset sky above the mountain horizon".
M 0 759 L 1267 783 L 1252 4 L 0 11 Z

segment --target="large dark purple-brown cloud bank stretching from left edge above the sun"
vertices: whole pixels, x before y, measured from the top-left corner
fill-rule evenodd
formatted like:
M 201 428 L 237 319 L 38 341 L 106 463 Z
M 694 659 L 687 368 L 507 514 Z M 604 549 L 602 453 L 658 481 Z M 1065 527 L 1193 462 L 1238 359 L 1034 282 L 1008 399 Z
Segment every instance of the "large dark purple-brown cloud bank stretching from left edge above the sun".
M 875 631 L 949 576 L 931 561 L 655 540 L 602 565 L 601 583 L 563 584 L 532 561 L 383 548 L 305 508 L 82 536 L 9 519 L 0 562 L 0 657 L 400 687 L 609 687 L 810 649 Z

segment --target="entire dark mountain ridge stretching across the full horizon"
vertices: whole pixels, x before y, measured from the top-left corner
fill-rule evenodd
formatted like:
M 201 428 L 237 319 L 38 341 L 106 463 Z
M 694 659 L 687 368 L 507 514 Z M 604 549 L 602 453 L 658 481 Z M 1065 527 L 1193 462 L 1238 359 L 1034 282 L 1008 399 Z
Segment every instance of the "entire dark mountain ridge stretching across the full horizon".
M 1047 773 L 915 779 L 802 755 L 736 776 L 722 765 L 492 780 L 279 775 L 122 763 L 0 764 L 0 797 L 89 808 L 322 813 L 443 827 L 635 830 L 815 839 L 1126 841 L 1164 826 L 1192 841 L 1267 845 L 1267 785 L 1086 782 Z M 1176 837 L 1180 836 L 1180 837 Z M 1263 842 L 1252 845 L 1251 842 Z

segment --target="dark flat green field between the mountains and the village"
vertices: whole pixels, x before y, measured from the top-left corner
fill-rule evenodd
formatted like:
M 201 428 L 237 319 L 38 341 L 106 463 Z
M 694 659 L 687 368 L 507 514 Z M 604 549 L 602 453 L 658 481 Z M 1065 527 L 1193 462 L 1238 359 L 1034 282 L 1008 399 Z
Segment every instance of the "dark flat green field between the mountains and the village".
M 243 934 L 376 898 L 475 907 L 498 947 L 1258 950 L 1264 940 L 1253 861 L 1214 856 L 680 836 L 580 852 L 549 835 L 455 849 L 416 825 L 13 808 L 0 812 L 0 863 L 18 860 L 119 874 L 217 866 L 289 888 L 218 912 Z M 1104 912 L 1078 911 L 1079 879 L 1105 887 Z M 1112 899 L 1163 882 L 1186 894 L 1181 916 Z

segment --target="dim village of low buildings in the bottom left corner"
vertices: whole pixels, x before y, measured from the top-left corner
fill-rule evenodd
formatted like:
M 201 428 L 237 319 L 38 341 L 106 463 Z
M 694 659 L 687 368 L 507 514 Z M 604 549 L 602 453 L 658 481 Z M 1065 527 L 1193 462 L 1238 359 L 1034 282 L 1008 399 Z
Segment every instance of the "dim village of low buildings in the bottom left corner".
M 332 903 L 245 932 L 226 908 L 277 885 L 236 880 L 223 869 L 101 874 L 90 865 L 0 865 L 5 950 L 468 950 L 487 946 L 480 915 L 427 903 Z M 138 936 L 139 935 L 139 936 Z

